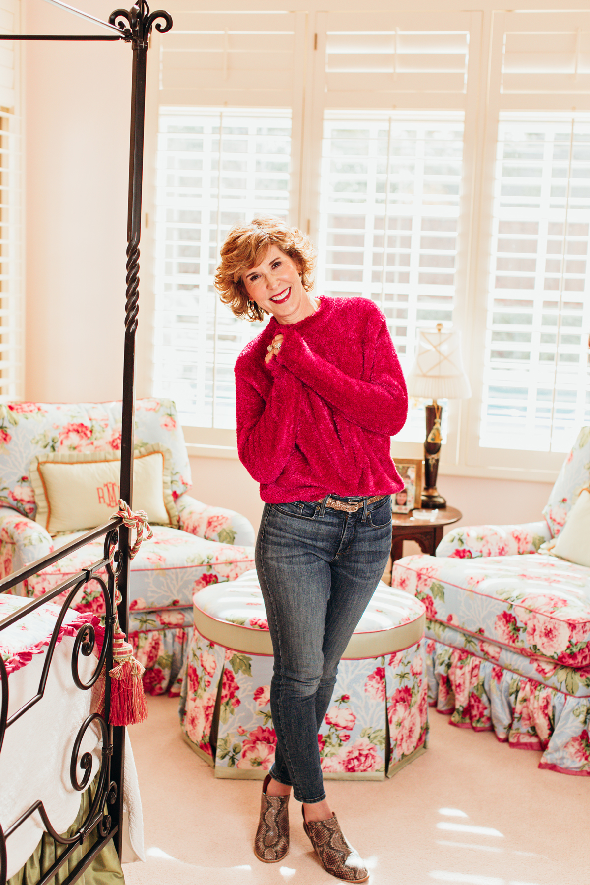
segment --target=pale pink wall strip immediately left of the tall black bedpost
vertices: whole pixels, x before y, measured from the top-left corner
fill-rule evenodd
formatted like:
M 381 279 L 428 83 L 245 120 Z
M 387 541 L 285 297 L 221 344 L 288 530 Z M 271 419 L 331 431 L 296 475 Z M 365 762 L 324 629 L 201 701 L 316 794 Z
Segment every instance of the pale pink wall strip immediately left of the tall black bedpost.
M 111 0 L 77 0 L 108 18 Z M 24 0 L 29 34 L 106 34 Z M 121 396 L 132 52 L 123 42 L 24 50 L 27 361 L 31 400 Z

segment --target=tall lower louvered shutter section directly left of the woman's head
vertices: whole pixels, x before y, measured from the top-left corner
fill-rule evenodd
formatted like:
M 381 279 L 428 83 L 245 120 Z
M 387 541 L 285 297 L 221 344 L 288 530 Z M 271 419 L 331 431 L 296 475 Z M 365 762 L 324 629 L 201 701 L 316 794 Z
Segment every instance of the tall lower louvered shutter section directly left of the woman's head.
M 155 394 L 187 425 L 232 428 L 235 360 L 264 324 L 236 319 L 213 277 L 230 227 L 287 216 L 290 113 L 163 107 L 158 139 Z

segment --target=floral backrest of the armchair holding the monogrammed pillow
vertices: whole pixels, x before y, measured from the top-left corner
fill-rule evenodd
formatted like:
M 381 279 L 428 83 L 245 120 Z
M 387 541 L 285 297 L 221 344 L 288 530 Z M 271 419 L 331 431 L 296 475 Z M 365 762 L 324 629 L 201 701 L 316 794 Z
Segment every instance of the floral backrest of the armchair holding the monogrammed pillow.
M 31 460 L 48 452 L 119 451 L 121 408 L 120 402 L 0 404 L 0 503 L 34 519 Z M 172 496 L 188 491 L 187 447 L 172 400 L 137 400 L 135 448 L 147 443 L 162 443 L 172 452 Z

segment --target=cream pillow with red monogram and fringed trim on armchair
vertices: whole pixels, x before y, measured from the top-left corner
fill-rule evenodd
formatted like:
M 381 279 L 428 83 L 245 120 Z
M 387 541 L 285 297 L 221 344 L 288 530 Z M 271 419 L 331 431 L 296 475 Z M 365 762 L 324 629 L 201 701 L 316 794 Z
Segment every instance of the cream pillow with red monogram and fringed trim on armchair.
M 170 451 L 147 445 L 134 455 L 134 510 L 150 523 L 177 527 L 170 489 Z M 50 453 L 34 458 L 30 477 L 36 521 L 50 535 L 76 532 L 108 522 L 119 509 L 120 456 L 114 451 Z

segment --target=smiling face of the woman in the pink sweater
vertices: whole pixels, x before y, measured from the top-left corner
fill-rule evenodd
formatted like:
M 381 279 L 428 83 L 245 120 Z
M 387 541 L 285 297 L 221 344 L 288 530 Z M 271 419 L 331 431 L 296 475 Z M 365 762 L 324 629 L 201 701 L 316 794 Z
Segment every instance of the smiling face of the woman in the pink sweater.
M 317 309 L 317 303 L 303 289 L 295 261 L 274 243 L 260 264 L 251 267 L 241 279 L 250 300 L 272 313 L 281 326 L 298 323 Z

